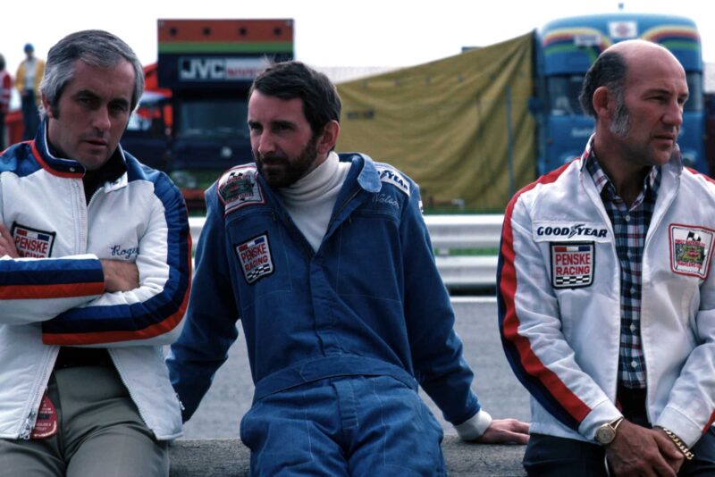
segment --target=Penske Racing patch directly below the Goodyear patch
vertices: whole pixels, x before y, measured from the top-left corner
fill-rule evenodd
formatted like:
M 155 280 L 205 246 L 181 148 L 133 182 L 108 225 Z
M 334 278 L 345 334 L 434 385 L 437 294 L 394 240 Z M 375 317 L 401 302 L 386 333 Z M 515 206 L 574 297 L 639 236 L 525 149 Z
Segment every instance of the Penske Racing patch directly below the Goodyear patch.
M 594 242 L 551 243 L 551 286 L 577 289 L 593 283 Z

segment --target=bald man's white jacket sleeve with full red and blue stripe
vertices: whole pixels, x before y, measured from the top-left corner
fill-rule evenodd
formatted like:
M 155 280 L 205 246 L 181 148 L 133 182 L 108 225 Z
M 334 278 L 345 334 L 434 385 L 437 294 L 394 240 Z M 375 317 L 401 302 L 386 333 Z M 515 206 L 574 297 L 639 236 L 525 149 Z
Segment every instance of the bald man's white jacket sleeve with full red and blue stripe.
M 593 439 L 620 412 L 576 363 L 561 331 L 559 302 L 531 218 L 517 195 L 507 207 L 497 269 L 498 316 L 509 364 L 539 404 L 564 425 Z

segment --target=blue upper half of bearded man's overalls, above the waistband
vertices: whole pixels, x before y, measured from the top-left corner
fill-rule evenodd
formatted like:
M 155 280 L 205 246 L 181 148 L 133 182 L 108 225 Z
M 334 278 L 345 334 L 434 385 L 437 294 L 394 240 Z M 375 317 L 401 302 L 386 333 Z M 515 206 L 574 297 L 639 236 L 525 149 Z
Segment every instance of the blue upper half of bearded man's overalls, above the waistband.
M 189 311 L 167 360 L 185 420 L 239 318 L 255 401 L 324 378 L 383 375 L 421 385 L 451 423 L 479 411 L 419 189 L 365 155 L 341 161 L 351 168 L 317 252 L 255 165 L 206 191 Z

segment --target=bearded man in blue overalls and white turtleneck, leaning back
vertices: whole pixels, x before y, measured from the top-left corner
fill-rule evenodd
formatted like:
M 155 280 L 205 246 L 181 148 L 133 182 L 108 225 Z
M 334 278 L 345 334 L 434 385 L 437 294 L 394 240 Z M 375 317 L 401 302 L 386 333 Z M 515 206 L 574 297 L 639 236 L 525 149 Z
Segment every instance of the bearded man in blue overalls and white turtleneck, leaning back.
M 278 63 L 248 93 L 255 164 L 206 191 L 181 338 L 167 364 L 196 411 L 243 325 L 256 383 L 241 440 L 253 475 L 444 475 L 442 427 L 526 442 L 471 390 L 419 189 L 362 154 L 332 152 L 341 101 L 324 74 Z

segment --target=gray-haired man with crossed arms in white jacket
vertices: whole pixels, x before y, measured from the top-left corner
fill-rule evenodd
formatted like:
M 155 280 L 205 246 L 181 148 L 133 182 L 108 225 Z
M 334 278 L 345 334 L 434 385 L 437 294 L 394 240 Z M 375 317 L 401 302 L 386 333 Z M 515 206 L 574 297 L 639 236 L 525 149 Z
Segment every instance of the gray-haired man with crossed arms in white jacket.
M 180 191 L 119 145 L 143 88 L 120 38 L 63 38 L 0 162 L 0 475 L 169 473 L 191 247 Z

